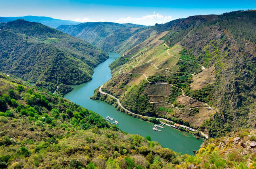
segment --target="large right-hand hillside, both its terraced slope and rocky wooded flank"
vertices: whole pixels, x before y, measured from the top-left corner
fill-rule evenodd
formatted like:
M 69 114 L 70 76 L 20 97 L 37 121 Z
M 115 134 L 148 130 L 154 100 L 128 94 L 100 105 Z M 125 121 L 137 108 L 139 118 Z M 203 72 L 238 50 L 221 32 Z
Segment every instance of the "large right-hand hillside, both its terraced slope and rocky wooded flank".
M 198 24 L 183 28 L 196 18 Z M 255 11 L 236 11 L 160 26 L 169 31 L 110 65 L 114 76 L 102 91 L 133 113 L 191 125 L 210 137 L 254 128 L 255 22 Z

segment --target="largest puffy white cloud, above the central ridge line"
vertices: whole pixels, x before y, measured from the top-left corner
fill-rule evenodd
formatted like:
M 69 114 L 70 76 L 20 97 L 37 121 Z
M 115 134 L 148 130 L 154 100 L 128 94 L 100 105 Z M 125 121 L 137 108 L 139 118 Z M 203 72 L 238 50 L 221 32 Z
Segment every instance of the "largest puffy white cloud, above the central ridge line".
M 171 21 L 172 17 L 164 16 L 159 13 L 156 14 L 154 12 L 152 15 L 146 15 L 143 17 L 127 17 L 127 18 L 121 18 L 117 20 L 118 23 L 134 23 L 134 24 L 144 24 L 144 25 L 154 25 L 156 23 L 166 23 L 168 21 Z

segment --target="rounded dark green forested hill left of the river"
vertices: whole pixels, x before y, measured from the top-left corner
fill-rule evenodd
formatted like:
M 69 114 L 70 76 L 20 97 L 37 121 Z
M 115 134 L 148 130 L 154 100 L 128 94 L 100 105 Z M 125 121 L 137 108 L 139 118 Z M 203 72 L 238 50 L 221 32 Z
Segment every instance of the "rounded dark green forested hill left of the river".
M 33 83 L 75 85 L 91 79 L 94 67 L 108 58 L 90 43 L 24 20 L 0 30 L 0 71 Z

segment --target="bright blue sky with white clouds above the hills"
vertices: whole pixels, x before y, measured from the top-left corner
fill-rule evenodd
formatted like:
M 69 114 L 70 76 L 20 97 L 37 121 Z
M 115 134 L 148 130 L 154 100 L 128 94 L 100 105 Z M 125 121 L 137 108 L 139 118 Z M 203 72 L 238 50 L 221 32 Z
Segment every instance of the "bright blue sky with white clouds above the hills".
M 256 0 L 0 0 L 0 16 L 154 25 L 191 15 L 256 9 Z

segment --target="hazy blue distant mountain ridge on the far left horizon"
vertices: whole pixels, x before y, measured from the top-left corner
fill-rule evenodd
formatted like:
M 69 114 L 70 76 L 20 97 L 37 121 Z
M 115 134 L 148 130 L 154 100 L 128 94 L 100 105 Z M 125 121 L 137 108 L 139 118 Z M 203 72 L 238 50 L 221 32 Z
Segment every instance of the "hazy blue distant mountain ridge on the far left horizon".
M 29 22 L 38 22 L 44 24 L 46 26 L 50 26 L 52 28 L 57 28 L 60 25 L 76 25 L 81 22 L 69 21 L 69 20 L 61 20 L 61 19 L 54 19 L 50 17 L 38 17 L 38 16 L 24 16 L 24 17 L 0 17 L 0 22 L 10 22 L 15 21 L 17 19 L 24 19 L 25 21 Z

